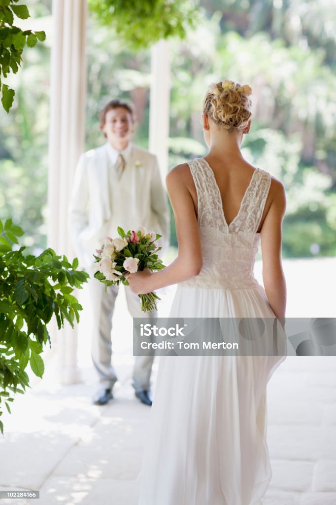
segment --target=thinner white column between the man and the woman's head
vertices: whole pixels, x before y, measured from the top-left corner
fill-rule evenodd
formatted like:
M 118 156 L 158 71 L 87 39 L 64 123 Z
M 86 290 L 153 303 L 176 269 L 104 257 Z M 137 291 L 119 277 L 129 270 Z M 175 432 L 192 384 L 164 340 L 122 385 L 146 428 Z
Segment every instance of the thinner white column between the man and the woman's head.
M 159 40 L 151 52 L 152 80 L 149 109 L 149 150 L 158 158 L 164 181 L 168 170 L 171 66 L 169 42 Z

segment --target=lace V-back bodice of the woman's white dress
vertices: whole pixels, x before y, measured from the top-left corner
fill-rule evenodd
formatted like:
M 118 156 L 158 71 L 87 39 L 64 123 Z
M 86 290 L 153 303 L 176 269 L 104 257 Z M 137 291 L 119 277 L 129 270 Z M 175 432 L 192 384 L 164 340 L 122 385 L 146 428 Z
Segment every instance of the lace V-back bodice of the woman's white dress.
M 257 168 L 239 212 L 228 225 L 214 173 L 203 158 L 188 162 L 197 190 L 198 226 L 203 267 L 183 286 L 244 289 L 258 284 L 253 274 L 260 234 L 257 233 L 271 176 Z

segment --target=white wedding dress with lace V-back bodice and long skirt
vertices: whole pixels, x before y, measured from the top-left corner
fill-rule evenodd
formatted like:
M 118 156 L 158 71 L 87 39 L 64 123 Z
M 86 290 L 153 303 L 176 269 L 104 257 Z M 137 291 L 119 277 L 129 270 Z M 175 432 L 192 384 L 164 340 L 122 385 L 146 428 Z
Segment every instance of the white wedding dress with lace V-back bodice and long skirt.
M 228 226 L 210 166 L 202 158 L 189 166 L 197 189 L 203 267 L 178 285 L 170 316 L 274 318 L 253 275 L 270 174 L 255 170 Z M 284 359 L 160 358 L 139 505 L 262 503 L 271 478 L 266 384 Z

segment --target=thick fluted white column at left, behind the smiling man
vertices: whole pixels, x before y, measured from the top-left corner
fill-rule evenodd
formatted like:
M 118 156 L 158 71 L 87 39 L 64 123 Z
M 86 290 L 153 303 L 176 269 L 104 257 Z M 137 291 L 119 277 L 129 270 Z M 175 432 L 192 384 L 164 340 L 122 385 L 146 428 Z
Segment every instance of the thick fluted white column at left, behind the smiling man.
M 57 254 L 74 257 L 67 231 L 67 213 L 73 173 L 84 150 L 86 97 L 87 0 L 53 0 L 51 47 L 50 130 L 48 169 L 48 246 Z M 57 349 L 62 383 L 80 380 L 77 366 L 77 331 L 66 323 L 50 327 Z

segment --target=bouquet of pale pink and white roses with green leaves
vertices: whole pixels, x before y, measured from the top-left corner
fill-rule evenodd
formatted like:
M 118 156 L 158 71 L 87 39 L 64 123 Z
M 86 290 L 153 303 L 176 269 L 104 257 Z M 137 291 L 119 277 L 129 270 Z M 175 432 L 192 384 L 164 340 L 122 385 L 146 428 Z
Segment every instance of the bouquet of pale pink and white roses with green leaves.
M 154 231 L 147 232 L 143 226 L 137 231 L 125 233 L 123 228 L 118 227 L 119 237 L 106 237 L 102 249 L 96 249 L 93 255 L 95 263 L 99 263 L 99 269 L 94 277 L 107 286 L 119 285 L 122 282 L 128 286 L 125 278 L 126 273 L 135 273 L 138 270 L 161 270 L 164 268 L 162 261 L 157 256 L 161 249 L 155 242 L 161 235 Z M 139 294 L 141 309 L 143 312 L 152 313 L 156 309 L 156 301 L 160 298 L 154 293 Z

